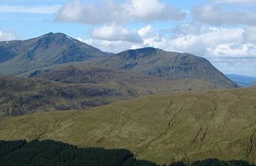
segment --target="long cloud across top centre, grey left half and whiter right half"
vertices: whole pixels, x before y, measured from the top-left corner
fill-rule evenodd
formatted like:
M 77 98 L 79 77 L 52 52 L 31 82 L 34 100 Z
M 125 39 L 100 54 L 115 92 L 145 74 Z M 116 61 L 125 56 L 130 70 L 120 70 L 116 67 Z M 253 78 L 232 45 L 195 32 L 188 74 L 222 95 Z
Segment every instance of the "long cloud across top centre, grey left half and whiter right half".
M 159 0 L 100 0 L 96 3 L 83 3 L 74 0 L 58 11 L 57 20 L 83 24 L 122 24 L 128 20 L 182 20 L 185 12 Z

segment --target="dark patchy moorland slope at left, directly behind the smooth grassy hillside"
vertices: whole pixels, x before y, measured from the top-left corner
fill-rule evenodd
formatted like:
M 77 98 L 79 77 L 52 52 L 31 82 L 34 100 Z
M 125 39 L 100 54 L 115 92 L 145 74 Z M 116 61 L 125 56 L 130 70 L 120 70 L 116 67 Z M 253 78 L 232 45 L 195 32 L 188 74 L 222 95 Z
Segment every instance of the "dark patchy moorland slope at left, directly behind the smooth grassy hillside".
M 0 112 L 17 116 L 38 111 L 85 109 L 138 96 L 126 87 L 104 84 L 63 84 L 43 79 L 0 77 Z

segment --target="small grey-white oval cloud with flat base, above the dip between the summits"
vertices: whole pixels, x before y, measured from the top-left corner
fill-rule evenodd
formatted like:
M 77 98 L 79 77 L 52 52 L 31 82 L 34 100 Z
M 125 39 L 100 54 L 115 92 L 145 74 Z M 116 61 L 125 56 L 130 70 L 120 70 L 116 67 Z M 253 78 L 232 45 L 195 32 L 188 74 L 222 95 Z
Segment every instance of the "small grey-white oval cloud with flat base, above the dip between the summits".
M 141 37 L 136 31 L 129 31 L 128 29 L 112 24 L 110 26 L 103 26 L 99 29 L 93 29 L 90 36 L 95 39 L 109 40 L 109 41 L 129 41 L 132 43 L 141 43 Z

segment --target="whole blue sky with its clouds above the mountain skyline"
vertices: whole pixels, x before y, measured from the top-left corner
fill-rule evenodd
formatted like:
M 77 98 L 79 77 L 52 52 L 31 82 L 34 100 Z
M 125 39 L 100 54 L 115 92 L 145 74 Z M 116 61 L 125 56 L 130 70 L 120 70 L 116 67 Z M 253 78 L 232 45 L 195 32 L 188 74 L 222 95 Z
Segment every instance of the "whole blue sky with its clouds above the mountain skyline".
M 109 52 L 189 52 L 221 72 L 256 75 L 255 0 L 0 0 L 0 41 L 49 32 Z

